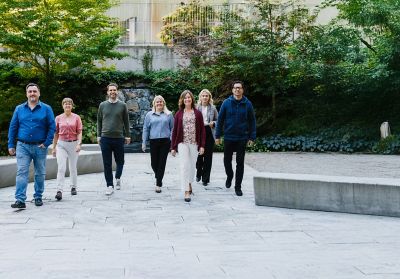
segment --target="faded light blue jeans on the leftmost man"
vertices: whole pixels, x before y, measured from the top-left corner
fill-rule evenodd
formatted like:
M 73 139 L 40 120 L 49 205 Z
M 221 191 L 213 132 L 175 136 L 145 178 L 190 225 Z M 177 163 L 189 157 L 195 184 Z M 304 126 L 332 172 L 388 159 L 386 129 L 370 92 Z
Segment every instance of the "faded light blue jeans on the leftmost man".
M 41 148 L 36 144 L 17 143 L 17 176 L 15 199 L 20 202 L 26 200 L 26 188 L 28 187 L 29 165 L 33 160 L 35 169 L 35 194 L 34 198 L 42 198 L 44 191 L 44 179 L 46 177 L 47 147 Z

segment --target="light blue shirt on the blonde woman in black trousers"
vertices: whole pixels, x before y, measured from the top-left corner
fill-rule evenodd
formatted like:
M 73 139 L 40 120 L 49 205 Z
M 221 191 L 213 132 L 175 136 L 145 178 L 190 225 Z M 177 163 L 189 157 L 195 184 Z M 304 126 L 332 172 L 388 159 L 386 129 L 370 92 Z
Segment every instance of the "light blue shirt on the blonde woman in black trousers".
M 172 128 L 174 127 L 174 117 L 172 113 L 156 113 L 149 111 L 146 114 L 143 124 L 142 140 L 146 144 L 148 139 L 171 139 Z

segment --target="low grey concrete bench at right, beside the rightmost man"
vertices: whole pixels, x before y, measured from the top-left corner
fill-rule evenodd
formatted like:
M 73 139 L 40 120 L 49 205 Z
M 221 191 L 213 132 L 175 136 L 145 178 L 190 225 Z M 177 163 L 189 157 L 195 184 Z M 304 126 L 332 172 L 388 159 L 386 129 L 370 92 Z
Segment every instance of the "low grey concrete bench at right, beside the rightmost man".
M 263 173 L 256 205 L 400 217 L 400 179 Z

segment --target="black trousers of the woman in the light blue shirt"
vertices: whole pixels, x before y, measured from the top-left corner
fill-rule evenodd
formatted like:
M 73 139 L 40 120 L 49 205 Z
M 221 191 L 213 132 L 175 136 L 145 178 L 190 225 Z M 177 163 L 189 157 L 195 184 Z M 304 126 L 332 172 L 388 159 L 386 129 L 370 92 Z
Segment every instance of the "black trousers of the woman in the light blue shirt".
M 162 187 L 162 179 L 164 178 L 165 165 L 171 141 L 169 138 L 151 139 L 150 140 L 150 156 L 151 168 L 156 177 L 156 186 Z

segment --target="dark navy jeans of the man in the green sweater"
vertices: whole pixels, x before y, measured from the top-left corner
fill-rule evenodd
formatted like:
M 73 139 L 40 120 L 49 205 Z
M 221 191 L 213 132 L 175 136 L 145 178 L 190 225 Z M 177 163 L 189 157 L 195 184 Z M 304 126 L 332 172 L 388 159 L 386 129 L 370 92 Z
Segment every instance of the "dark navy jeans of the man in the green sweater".
M 112 175 L 112 153 L 114 152 L 114 159 L 117 165 L 115 171 L 115 178 L 119 179 L 122 175 L 124 168 L 124 138 L 107 138 L 101 137 L 100 147 L 103 156 L 104 177 L 106 178 L 107 187 L 114 186 Z

